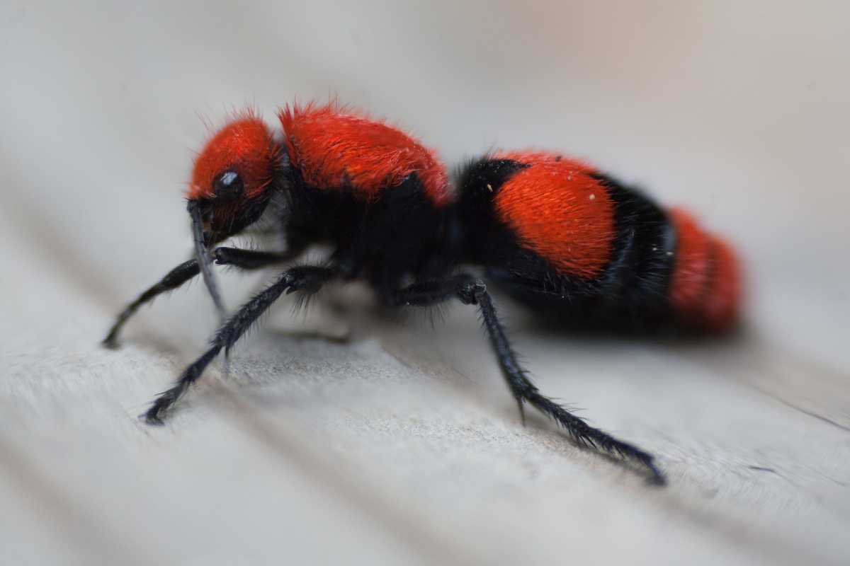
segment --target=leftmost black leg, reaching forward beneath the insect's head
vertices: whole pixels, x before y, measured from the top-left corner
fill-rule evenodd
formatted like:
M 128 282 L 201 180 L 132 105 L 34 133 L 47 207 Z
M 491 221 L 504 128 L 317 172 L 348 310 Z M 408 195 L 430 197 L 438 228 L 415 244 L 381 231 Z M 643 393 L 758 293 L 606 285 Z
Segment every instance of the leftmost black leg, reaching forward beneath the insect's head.
M 261 267 L 274 265 L 275 263 L 289 261 L 294 255 L 294 253 L 279 254 L 238 248 L 216 248 L 212 252 L 212 257 L 218 265 L 235 266 L 239 269 L 246 270 L 259 269 Z M 156 297 L 160 294 L 177 289 L 200 272 L 201 269 L 198 267 L 198 261 L 196 259 L 184 261 L 177 267 L 174 267 L 174 269 L 168 272 L 165 277 L 162 277 L 159 283 L 156 283 L 150 287 L 150 289 L 144 291 L 144 293 L 139 295 L 138 299 L 134 300 L 132 303 L 127 305 L 123 311 L 121 311 L 121 314 L 119 314 L 116 318 L 112 328 L 110 328 L 109 333 L 106 334 L 106 338 L 103 340 L 102 344 L 107 348 L 117 348 L 118 334 L 121 333 L 121 329 L 124 327 L 124 324 L 127 323 L 127 320 L 139 310 L 140 306 L 156 299 Z

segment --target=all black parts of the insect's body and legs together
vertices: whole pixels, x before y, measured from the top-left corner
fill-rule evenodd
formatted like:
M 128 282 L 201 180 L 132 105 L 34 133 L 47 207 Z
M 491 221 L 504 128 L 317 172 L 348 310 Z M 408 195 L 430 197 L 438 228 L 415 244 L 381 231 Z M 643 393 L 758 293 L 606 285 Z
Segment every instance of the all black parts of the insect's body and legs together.
M 218 330 L 210 349 L 187 367 L 172 389 L 161 394 L 145 417 L 160 423 L 173 404 L 194 383 L 221 350 L 229 350 L 258 317 L 283 292 L 314 293 L 331 278 L 362 279 L 371 283 L 377 297 L 394 307 L 431 306 L 456 298 L 477 305 L 490 345 L 520 412 L 525 403 L 552 417 L 582 446 L 638 462 L 649 470 L 649 479 L 663 484 L 664 476 L 653 457 L 636 446 L 593 429 L 563 406 L 541 394 L 519 365 L 484 281 L 456 274 L 462 266 L 484 268 L 490 281 L 541 311 L 563 311 L 575 324 L 622 323 L 646 315 L 666 314 L 666 285 L 672 259 L 669 223 L 648 199 L 608 177 L 599 177 L 616 203 L 617 237 L 612 260 L 604 273 L 582 280 L 560 273 L 526 249 L 512 231 L 498 221 L 492 197 L 501 185 L 526 165 L 511 160 L 483 159 L 460 173 L 456 202 L 438 206 L 429 199 L 419 177 L 411 174 L 397 186 L 383 188 L 377 199 L 360 197 L 356 188 L 312 187 L 300 172 L 286 166 L 286 156 L 269 193 L 286 201 L 280 216 L 293 257 L 311 244 L 330 244 L 326 266 L 300 266 L 283 272 L 276 283 L 243 305 Z M 241 211 L 233 232 L 207 234 L 207 244 L 226 238 L 258 219 L 271 194 Z M 214 202 L 201 202 L 212 210 Z M 218 249 L 218 263 L 256 268 L 279 261 L 279 255 Z M 119 316 L 106 342 L 114 344 L 118 330 L 139 305 L 156 294 L 174 289 L 198 272 L 197 263 L 178 266 L 161 283 L 146 291 Z

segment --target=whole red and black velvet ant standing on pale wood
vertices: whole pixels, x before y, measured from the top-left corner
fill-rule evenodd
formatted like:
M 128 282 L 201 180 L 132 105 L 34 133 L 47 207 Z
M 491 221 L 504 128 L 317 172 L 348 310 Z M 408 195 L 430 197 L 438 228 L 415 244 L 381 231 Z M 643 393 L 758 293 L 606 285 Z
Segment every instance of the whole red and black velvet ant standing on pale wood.
M 187 193 L 195 258 L 128 305 L 104 341 L 116 345 L 140 305 L 199 273 L 224 311 L 213 261 L 245 270 L 286 266 L 156 398 L 144 414 L 148 423 L 161 423 L 281 294 L 314 294 L 334 280 L 360 279 L 388 306 L 456 299 L 477 307 L 523 419 L 524 406 L 533 406 L 578 444 L 637 462 L 652 482 L 665 482 L 647 451 L 592 428 L 532 383 L 485 281 L 577 327 L 718 331 L 734 324 L 740 302 L 738 262 L 728 244 L 685 212 L 668 213 L 560 154 L 486 155 L 458 171 L 453 190 L 432 150 L 382 121 L 337 104 L 287 106 L 278 117 L 282 134 L 246 114 L 207 142 Z M 286 251 L 218 246 L 269 215 Z M 294 265 L 314 244 L 330 244 L 328 260 Z

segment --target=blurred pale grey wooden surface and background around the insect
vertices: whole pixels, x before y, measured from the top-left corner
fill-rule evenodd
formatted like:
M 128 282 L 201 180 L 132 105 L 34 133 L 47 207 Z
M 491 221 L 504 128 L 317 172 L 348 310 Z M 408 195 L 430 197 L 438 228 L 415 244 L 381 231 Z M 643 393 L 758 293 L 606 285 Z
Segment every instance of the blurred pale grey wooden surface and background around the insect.
M 847 563 L 848 22 L 756 0 L 3 3 L 0 561 Z M 507 311 L 541 389 L 659 454 L 667 490 L 523 428 L 459 307 L 348 328 L 284 305 L 229 382 L 136 420 L 215 323 L 195 285 L 98 346 L 190 250 L 205 121 L 327 98 L 450 165 L 575 154 L 739 247 L 727 342 L 564 339 Z M 223 275 L 228 305 L 271 275 Z M 352 339 L 278 332 L 315 326 Z

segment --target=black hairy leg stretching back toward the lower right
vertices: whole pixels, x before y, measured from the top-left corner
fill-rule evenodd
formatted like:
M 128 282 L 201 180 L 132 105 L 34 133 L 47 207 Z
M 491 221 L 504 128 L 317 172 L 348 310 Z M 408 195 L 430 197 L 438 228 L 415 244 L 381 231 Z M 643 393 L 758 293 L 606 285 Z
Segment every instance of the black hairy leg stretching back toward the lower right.
M 523 406 L 527 402 L 551 417 L 580 446 L 592 446 L 600 451 L 638 462 L 649 470 L 650 483 L 666 484 L 664 474 L 655 466 L 654 457 L 651 454 L 638 446 L 616 439 L 602 430 L 594 429 L 583 418 L 576 417 L 563 406 L 541 394 L 523 367 L 519 365 L 505 330 L 499 322 L 496 307 L 493 305 L 490 293 L 487 292 L 487 286 L 480 279 L 461 274 L 433 282 L 415 283 L 390 294 L 387 300 L 391 305 L 428 306 L 450 299 L 452 296 L 456 296 L 464 305 L 478 305 L 490 345 L 496 353 L 507 386 L 517 400 L 523 423 Z

